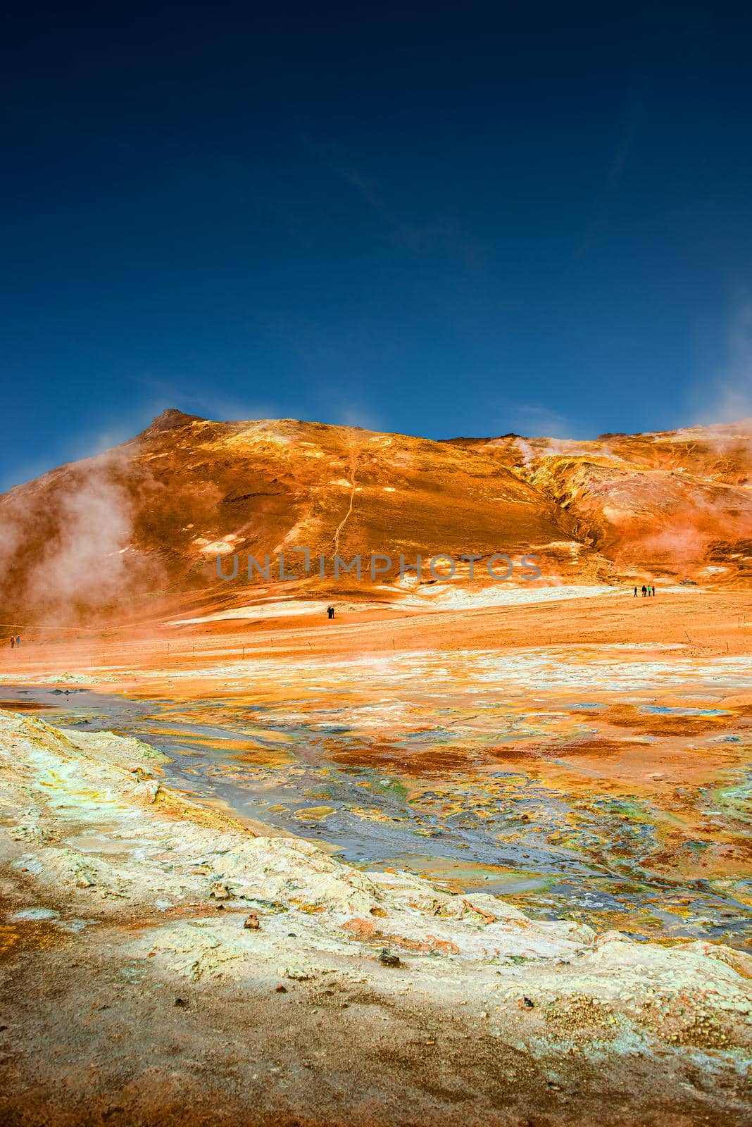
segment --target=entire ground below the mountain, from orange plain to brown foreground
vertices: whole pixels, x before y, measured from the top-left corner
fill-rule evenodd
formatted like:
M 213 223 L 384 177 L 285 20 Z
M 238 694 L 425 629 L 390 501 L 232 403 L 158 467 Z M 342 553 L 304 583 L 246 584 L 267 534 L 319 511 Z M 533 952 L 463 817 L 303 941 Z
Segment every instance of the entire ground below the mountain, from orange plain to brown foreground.
M 751 603 L 266 604 L 6 654 L 0 1122 L 752 1121 Z M 179 779 L 78 690 L 162 709 Z

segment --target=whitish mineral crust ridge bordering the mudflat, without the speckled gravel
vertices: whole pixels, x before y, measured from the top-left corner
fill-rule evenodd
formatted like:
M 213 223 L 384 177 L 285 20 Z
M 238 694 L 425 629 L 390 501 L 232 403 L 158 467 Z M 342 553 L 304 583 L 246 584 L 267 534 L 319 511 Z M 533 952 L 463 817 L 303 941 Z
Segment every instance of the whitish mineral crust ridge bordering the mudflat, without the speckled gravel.
M 82 915 L 194 906 L 193 919 L 165 916 L 134 949 L 161 952 L 194 980 L 277 974 L 280 958 L 284 974 L 303 980 L 353 956 L 370 960 L 368 973 L 388 947 L 411 974 L 436 982 L 437 997 L 482 994 L 484 1012 L 489 991 L 496 1009 L 522 995 L 564 1006 L 585 997 L 625 1021 L 639 1012 L 711 1022 L 729 1045 L 741 1044 L 752 959 L 738 951 L 598 937 L 572 921 L 528 919 L 495 896 L 449 894 L 405 872 L 362 872 L 310 842 L 253 836 L 171 792 L 160 781 L 162 762 L 136 739 L 0 713 L 0 851 L 35 880 L 41 900 L 62 894 L 70 902 L 72 925 Z M 226 889 L 221 913 L 211 896 L 217 887 Z M 260 930 L 243 928 L 250 911 Z M 56 913 L 42 904 L 17 919 Z

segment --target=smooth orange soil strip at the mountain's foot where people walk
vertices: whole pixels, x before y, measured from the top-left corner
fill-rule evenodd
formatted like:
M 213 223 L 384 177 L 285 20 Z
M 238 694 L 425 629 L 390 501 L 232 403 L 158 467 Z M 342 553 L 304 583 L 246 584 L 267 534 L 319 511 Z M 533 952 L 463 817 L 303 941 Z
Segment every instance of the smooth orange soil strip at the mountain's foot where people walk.
M 680 646 L 684 655 L 744 655 L 752 650 L 752 594 L 660 591 L 655 598 L 606 595 L 555 603 L 409 613 L 399 609 L 339 612 L 263 621 L 205 622 L 151 630 L 104 629 L 59 640 L 37 630 L 20 653 L 0 651 L 2 671 L 33 682 L 55 672 L 197 671 L 245 657 L 353 658 L 418 650 L 528 649 L 535 646 Z M 677 651 L 679 654 L 679 651 Z M 123 676 L 127 684 L 129 676 Z M 177 694 L 195 696 L 196 682 L 179 681 Z M 199 690 L 200 691 L 200 690 Z M 645 721 L 647 724 L 647 721 Z M 653 718 L 651 730 L 671 719 Z M 706 722 L 706 721 L 702 721 Z M 647 730 L 647 728 L 645 729 Z

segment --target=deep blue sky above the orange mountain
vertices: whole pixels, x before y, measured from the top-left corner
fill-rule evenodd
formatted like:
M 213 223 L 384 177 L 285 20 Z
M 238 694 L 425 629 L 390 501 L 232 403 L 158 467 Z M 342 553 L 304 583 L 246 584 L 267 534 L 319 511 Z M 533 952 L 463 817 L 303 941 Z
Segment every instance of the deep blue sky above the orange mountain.
M 168 406 L 752 412 L 742 5 L 30 5 L 2 55 L 2 487 Z

